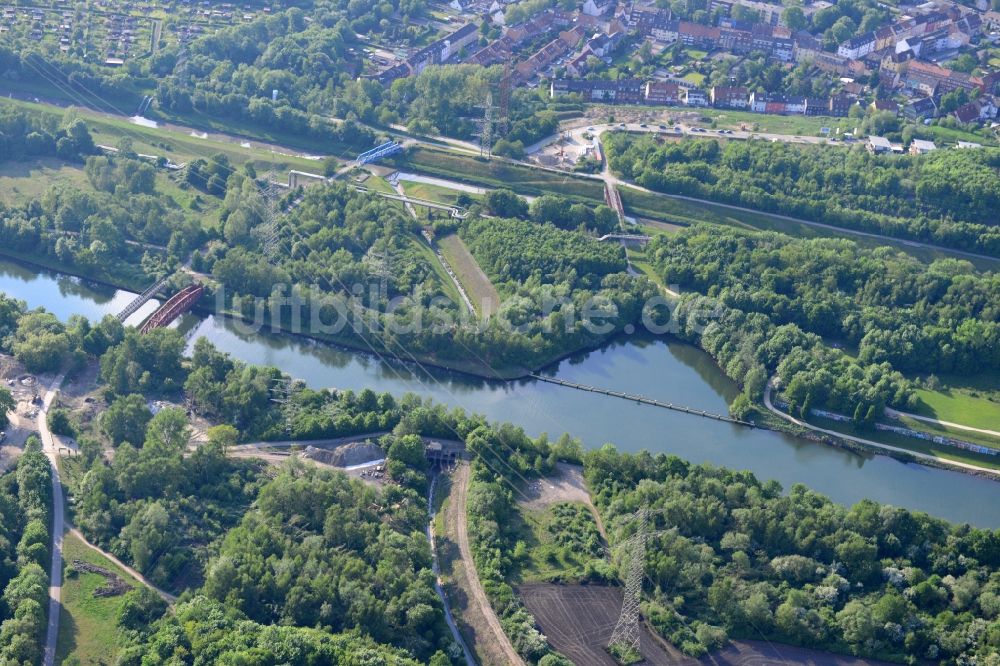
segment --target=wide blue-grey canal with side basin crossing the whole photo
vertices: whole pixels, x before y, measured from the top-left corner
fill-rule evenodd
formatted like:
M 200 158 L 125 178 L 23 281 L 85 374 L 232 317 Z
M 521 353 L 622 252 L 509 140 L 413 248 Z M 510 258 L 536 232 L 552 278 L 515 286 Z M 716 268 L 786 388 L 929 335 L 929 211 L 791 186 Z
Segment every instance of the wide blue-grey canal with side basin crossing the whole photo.
M 0 291 L 44 306 L 61 319 L 97 319 L 125 306 L 129 292 L 0 260 Z M 148 314 L 147 304 L 129 323 Z M 927 511 L 981 527 L 1000 527 L 1000 483 L 960 472 L 859 455 L 766 430 L 753 430 L 629 401 L 538 382 L 489 382 L 421 370 L 375 356 L 270 332 L 248 333 L 239 323 L 192 315 L 179 322 L 244 361 L 273 365 L 313 387 L 414 392 L 449 406 L 522 426 L 529 434 L 569 432 L 588 448 L 612 442 L 693 462 L 749 469 L 786 489 L 804 483 L 851 504 L 863 498 Z M 578 354 L 547 374 L 582 384 L 638 393 L 697 409 L 726 413 L 737 389 L 706 354 L 690 345 L 634 337 Z

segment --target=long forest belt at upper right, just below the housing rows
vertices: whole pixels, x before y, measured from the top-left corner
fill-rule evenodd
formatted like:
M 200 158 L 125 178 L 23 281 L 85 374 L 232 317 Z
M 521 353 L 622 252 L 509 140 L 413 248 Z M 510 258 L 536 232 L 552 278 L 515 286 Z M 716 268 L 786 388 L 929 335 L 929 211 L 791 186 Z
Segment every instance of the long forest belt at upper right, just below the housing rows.
M 767 141 L 605 136 L 611 167 L 661 192 L 1000 255 L 1000 149 L 873 156 Z

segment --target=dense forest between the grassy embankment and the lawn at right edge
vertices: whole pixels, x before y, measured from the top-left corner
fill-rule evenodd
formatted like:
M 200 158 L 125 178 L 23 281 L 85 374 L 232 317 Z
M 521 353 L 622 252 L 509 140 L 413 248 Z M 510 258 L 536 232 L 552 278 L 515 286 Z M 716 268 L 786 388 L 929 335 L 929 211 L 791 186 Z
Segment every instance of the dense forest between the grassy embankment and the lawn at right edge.
M 694 227 L 650 247 L 664 280 L 920 373 L 1000 369 L 1000 275 L 890 248 Z

